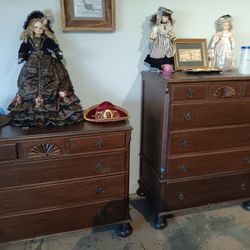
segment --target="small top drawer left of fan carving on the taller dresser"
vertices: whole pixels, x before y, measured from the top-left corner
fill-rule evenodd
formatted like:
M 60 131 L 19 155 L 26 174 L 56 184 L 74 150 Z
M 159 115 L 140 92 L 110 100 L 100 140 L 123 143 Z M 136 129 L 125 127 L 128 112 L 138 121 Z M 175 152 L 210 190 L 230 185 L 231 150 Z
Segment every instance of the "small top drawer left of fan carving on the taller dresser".
M 206 85 L 173 86 L 172 100 L 196 100 L 206 97 Z

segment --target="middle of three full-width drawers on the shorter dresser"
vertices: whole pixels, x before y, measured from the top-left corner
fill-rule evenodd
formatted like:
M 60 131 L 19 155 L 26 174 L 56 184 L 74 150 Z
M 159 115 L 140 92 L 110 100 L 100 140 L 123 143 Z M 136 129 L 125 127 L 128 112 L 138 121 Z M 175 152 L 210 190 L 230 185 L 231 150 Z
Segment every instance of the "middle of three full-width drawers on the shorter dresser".
M 125 195 L 125 175 L 0 191 L 0 217 Z

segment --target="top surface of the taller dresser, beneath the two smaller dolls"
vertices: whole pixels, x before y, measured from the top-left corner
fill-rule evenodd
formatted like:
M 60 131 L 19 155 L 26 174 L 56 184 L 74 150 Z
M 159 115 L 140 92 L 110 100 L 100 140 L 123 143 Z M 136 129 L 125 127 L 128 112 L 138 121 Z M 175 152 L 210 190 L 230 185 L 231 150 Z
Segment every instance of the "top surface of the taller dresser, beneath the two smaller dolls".
M 175 72 L 171 75 L 162 75 L 159 72 L 143 71 L 143 78 L 154 78 L 164 80 L 167 83 L 182 83 L 182 82 L 206 82 L 206 81 L 237 81 L 250 80 L 250 75 L 240 75 L 237 72 L 222 72 L 222 73 L 194 73 L 186 74 L 184 72 Z

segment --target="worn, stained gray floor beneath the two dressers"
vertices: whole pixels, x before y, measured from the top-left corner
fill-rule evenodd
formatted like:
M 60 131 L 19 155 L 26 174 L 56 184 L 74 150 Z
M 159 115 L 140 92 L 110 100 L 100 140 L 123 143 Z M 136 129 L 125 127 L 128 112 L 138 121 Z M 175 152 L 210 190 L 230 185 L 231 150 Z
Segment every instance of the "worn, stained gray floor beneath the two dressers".
M 133 234 L 119 238 L 115 226 L 85 229 L 0 245 L 0 250 L 250 250 L 250 212 L 239 205 L 180 212 L 155 230 L 148 202 L 131 195 Z

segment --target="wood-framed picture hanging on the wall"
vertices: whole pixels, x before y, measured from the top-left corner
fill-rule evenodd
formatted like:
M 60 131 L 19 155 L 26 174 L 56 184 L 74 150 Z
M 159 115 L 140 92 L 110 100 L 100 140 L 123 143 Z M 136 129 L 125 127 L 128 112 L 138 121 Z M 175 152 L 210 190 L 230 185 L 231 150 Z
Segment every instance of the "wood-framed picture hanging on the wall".
M 115 0 L 61 0 L 63 31 L 115 31 Z

